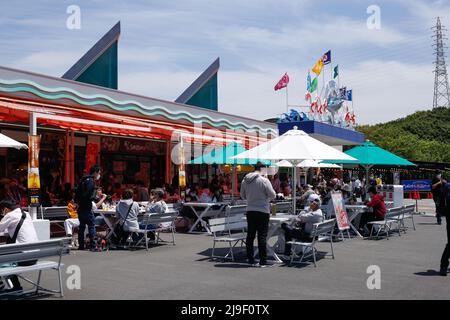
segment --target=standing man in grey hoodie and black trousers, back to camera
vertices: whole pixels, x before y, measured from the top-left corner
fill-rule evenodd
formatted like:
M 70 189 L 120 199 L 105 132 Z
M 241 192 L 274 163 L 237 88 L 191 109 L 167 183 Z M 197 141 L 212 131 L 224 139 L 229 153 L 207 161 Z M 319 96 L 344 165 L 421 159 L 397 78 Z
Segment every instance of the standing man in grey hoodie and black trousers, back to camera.
M 241 185 L 241 198 L 247 200 L 247 258 L 254 266 L 267 265 L 267 232 L 269 230 L 270 200 L 275 199 L 276 193 L 269 179 L 261 175 L 261 168 L 265 165 L 258 162 L 255 172 L 244 177 Z M 258 233 L 259 265 L 253 257 L 253 242 Z

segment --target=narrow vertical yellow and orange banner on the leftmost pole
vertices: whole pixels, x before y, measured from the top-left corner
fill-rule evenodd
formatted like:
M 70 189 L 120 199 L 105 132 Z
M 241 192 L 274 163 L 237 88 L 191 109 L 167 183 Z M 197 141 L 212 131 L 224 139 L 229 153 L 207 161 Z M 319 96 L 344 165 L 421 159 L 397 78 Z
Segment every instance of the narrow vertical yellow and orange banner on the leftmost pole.
M 32 207 L 39 207 L 39 191 L 41 181 L 39 178 L 39 149 L 41 136 L 28 135 L 28 196 Z

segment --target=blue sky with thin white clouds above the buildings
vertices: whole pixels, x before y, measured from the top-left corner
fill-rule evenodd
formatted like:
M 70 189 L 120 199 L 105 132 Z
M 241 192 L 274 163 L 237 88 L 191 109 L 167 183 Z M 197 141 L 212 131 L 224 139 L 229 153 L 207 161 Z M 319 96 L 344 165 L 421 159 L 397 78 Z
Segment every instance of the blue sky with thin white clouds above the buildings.
M 0 0 L 0 65 L 60 77 L 120 20 L 120 90 L 174 101 L 220 57 L 219 111 L 264 120 L 286 111 L 285 72 L 289 104 L 306 104 L 308 70 L 331 50 L 357 122 L 375 124 L 431 109 L 437 16 L 450 26 L 450 0 Z

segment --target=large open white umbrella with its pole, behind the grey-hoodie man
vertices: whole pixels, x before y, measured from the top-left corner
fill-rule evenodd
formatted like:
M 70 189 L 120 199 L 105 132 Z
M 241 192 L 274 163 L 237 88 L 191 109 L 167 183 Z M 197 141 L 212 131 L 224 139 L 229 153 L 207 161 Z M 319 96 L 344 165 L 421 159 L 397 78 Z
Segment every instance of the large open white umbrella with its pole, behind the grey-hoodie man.
M 296 212 L 297 165 L 303 160 L 356 160 L 355 158 L 310 137 L 302 130 L 289 130 L 275 139 L 269 140 L 242 152 L 235 159 L 288 160 L 294 165 L 294 213 Z

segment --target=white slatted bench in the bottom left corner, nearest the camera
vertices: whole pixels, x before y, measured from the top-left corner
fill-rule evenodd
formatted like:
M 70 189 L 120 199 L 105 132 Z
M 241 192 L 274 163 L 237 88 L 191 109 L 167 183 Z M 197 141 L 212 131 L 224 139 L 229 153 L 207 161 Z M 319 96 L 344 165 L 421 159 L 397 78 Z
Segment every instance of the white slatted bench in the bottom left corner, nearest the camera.
M 33 289 L 29 291 L 22 291 L 19 294 L 25 294 L 30 292 L 39 291 L 59 293 L 63 297 L 63 283 L 61 277 L 61 267 L 64 266 L 61 263 L 62 256 L 70 253 L 71 238 L 59 238 L 53 240 L 38 241 L 32 243 L 14 243 L 0 246 L 0 265 L 12 264 L 17 262 L 24 262 L 30 260 L 38 260 L 36 264 L 30 266 L 17 266 L 17 267 L 5 267 L 0 268 L 0 278 L 17 275 L 24 281 L 31 283 Z M 58 257 L 58 261 L 46 261 L 39 260 L 49 257 Z M 59 290 L 46 289 L 41 286 L 41 273 L 43 270 L 56 270 L 58 272 Z M 38 271 L 37 281 L 34 282 L 22 276 L 23 273 Z M 2 293 L 0 296 L 8 293 Z

